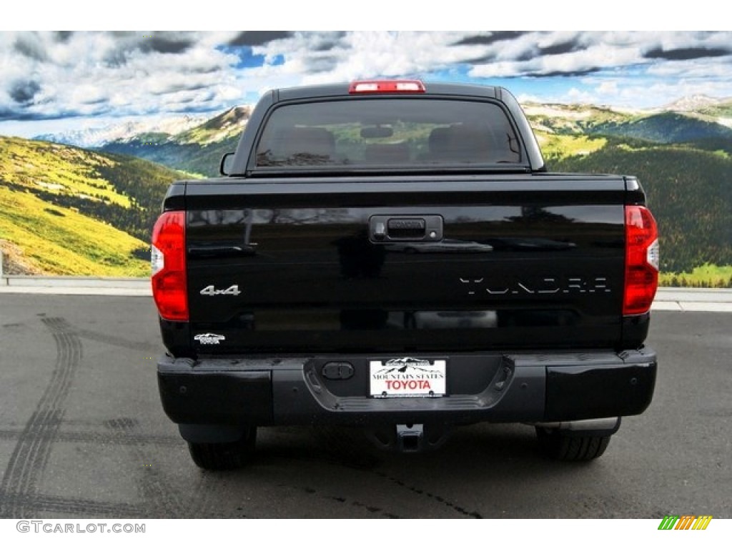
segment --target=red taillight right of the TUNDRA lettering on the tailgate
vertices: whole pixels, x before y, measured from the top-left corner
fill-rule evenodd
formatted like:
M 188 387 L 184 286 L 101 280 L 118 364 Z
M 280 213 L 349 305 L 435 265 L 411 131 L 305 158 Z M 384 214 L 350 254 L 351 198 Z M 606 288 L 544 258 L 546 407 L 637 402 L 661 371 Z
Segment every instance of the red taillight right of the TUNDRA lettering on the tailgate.
M 658 288 L 658 230 L 643 206 L 625 206 L 624 315 L 647 313 Z

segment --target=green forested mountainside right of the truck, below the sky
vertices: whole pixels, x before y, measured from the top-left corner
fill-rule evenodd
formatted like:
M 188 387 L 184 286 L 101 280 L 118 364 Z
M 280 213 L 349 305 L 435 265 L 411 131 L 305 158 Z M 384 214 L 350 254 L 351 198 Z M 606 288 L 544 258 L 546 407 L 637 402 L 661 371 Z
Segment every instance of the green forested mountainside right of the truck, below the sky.
M 525 107 L 550 170 L 638 176 L 660 226 L 663 284 L 732 286 L 732 102 L 679 108 Z

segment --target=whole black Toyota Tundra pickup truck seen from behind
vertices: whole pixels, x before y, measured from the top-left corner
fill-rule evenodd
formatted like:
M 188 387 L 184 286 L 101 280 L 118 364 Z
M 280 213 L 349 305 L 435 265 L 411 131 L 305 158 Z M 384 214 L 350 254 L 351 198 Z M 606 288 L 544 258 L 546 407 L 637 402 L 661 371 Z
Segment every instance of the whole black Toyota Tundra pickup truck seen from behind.
M 549 173 L 507 90 L 270 91 L 221 172 L 173 183 L 152 235 L 160 396 L 198 466 L 241 466 L 272 425 L 416 452 L 521 422 L 591 460 L 649 406 L 641 185 Z

